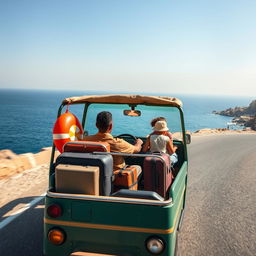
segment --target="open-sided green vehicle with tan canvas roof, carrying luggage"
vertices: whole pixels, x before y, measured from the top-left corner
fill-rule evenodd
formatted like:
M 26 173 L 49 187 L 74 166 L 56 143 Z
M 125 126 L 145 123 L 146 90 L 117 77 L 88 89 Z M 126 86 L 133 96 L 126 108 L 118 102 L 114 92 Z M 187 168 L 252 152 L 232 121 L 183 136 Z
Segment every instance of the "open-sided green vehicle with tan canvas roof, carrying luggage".
M 53 145 L 49 190 L 45 197 L 44 255 L 175 255 L 187 191 L 186 144 L 190 143 L 190 136 L 185 132 L 182 102 L 177 98 L 141 95 L 72 97 L 63 100 L 58 117 L 65 106 L 81 120 L 86 135 L 97 132 L 95 119 L 99 112 L 111 112 L 113 136 L 130 143 L 134 136 L 145 142 L 152 132 L 151 120 L 163 116 L 172 132 L 173 144 L 178 147 L 178 162 L 171 167 L 173 181 L 162 198 L 144 189 L 143 162 L 150 153 L 76 152 L 76 156 L 88 154 L 92 158 L 120 155 L 125 157 L 126 164 L 141 166 L 138 189 L 127 193 L 127 197 L 126 190 L 118 196 L 111 184 L 107 195 L 60 192 L 56 189 L 56 169 L 58 158 L 66 153 L 57 157 Z M 90 166 L 90 162 L 86 165 Z M 71 186 L 76 185 L 72 178 L 69 181 Z

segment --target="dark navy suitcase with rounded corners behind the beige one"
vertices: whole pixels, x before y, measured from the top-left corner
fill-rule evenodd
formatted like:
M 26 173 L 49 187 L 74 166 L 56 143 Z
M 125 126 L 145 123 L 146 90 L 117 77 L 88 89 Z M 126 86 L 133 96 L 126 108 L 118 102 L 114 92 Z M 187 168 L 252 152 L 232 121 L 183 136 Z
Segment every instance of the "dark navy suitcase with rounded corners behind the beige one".
M 113 158 L 111 155 L 64 152 L 57 157 L 56 166 L 58 164 L 99 166 L 100 195 L 109 196 L 111 194 L 113 179 Z

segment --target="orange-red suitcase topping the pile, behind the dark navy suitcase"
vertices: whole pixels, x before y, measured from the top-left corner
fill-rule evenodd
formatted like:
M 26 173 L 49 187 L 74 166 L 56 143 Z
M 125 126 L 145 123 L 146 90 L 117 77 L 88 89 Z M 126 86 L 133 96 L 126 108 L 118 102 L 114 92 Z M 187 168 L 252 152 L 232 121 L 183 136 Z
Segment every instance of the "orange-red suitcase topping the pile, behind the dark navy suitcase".
M 103 141 L 72 141 L 67 142 L 63 147 L 64 152 L 110 152 L 110 145 Z

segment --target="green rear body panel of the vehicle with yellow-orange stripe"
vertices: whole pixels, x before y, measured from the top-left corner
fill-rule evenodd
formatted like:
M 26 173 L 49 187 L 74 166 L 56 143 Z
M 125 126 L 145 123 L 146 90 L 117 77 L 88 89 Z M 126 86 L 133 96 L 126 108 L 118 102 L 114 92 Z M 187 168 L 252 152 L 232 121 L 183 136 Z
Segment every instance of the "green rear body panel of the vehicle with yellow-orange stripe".
M 65 231 L 66 241 L 55 246 L 45 237 L 45 254 L 49 256 L 69 255 L 76 250 L 147 255 L 145 241 L 149 236 L 170 240 L 173 232 L 172 204 L 158 206 L 46 197 L 46 208 L 51 203 L 59 204 L 63 215 L 53 219 L 45 213 L 45 234 L 59 227 Z M 168 244 L 166 253 L 170 250 Z

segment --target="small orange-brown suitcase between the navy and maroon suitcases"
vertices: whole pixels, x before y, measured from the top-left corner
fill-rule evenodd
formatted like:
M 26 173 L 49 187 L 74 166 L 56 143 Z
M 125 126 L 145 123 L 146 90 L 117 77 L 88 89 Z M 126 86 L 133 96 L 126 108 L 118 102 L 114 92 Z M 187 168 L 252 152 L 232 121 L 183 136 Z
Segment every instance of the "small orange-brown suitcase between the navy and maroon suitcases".
M 138 189 L 138 176 L 140 173 L 137 172 L 137 166 L 127 166 L 120 170 L 114 171 L 114 191 L 118 189 Z

